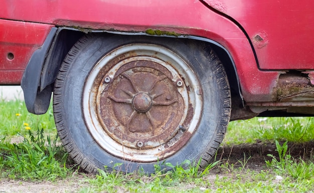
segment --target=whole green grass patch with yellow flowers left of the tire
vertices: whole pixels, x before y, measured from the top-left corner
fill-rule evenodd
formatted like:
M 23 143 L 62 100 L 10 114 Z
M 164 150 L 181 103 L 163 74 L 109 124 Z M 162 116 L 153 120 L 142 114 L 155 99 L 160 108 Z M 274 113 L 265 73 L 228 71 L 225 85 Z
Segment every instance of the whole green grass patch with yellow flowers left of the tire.
M 52 108 L 45 115 L 28 113 L 20 101 L 2 101 L 0 108 L 0 177 L 55 180 L 73 172 L 58 145 Z

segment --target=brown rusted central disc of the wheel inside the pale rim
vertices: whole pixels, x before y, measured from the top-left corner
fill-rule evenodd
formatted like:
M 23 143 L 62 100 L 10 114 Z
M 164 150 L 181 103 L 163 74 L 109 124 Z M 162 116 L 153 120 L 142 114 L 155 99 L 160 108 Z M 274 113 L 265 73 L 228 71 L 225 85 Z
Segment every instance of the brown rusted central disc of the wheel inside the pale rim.
M 168 142 L 178 132 L 185 106 L 171 72 L 151 61 L 132 61 L 121 68 L 100 93 L 98 116 L 103 128 L 115 141 L 131 148 Z

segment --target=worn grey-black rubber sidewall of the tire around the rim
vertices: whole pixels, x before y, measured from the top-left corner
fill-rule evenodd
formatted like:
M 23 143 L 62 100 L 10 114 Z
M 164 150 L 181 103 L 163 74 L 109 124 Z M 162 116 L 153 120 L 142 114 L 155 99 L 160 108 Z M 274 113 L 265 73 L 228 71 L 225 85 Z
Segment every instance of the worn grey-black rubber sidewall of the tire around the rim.
M 62 119 L 64 127 L 68 128 L 69 137 L 74 142 L 72 145 L 87 162 L 101 169 L 104 165 L 108 169 L 112 169 L 115 163 L 122 163 L 119 168 L 121 171 L 132 172 L 141 168 L 151 173 L 154 172 L 154 164 L 163 162 L 137 163 L 109 154 L 95 142 L 84 122 L 82 97 L 89 72 L 106 53 L 130 43 L 151 43 L 164 46 L 184 58 L 199 77 L 203 95 L 203 110 L 199 126 L 187 144 L 166 159 L 166 162 L 173 165 L 180 164 L 178 161 L 183 162 L 186 159 L 198 161 L 197 159 L 201 158 L 204 151 L 210 148 L 212 144 L 215 144 L 215 135 L 225 132 L 220 120 L 223 119 L 222 115 L 225 111 L 221 99 L 226 96 L 224 92 L 220 91 L 222 88 L 219 81 L 226 81 L 226 78 L 224 80 L 217 79 L 218 73 L 221 72 L 217 70 L 217 65 L 211 61 L 211 53 L 205 50 L 203 43 L 185 39 L 155 37 L 147 39 L 140 36 L 104 37 L 98 35 L 89 36 L 88 38 L 83 37 L 78 43 L 80 45 L 77 45 L 77 47 L 80 47 L 80 51 L 71 62 L 66 72 L 66 78 L 62 82 Z M 69 54 L 71 54 L 71 50 Z

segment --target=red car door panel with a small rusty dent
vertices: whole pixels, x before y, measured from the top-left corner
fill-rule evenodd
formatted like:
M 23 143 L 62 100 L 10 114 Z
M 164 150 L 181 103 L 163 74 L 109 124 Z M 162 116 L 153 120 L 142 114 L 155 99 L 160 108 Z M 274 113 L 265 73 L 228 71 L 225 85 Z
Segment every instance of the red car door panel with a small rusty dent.
M 313 1 L 200 1 L 244 30 L 260 69 L 314 69 Z

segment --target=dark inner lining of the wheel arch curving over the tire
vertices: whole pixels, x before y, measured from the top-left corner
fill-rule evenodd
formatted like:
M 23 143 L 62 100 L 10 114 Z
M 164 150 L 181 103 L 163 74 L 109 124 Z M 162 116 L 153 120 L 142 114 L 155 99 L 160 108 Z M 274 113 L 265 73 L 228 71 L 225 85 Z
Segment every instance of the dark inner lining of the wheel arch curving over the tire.
M 61 63 L 63 59 L 65 58 L 68 51 L 71 49 L 71 47 L 86 33 L 104 33 L 104 34 L 119 34 L 119 35 L 139 35 L 139 36 L 158 36 L 158 35 L 149 35 L 144 32 L 117 32 L 117 31 L 104 31 L 104 30 L 87 30 L 84 29 L 75 29 L 75 28 L 68 28 L 68 27 L 60 27 L 58 28 L 56 35 L 54 37 L 54 40 L 52 42 L 52 45 L 49 49 L 49 52 L 47 53 L 46 60 L 43 64 L 43 67 L 41 69 L 40 74 L 40 85 L 37 87 L 36 93 L 33 93 L 33 95 L 29 94 L 31 97 L 35 97 L 37 100 L 34 101 L 32 104 L 27 104 L 29 110 L 31 113 L 34 114 L 43 114 L 48 110 L 48 105 L 50 103 L 51 94 L 47 94 L 52 92 L 53 84 L 56 80 L 57 73 L 59 71 L 59 68 L 61 66 Z M 206 42 L 208 46 L 210 46 L 218 55 L 219 59 L 222 61 L 224 68 L 226 70 L 226 74 L 228 77 L 229 85 L 231 88 L 231 99 L 232 104 L 237 104 L 236 108 L 242 108 L 244 101 L 243 96 L 241 93 L 239 78 L 236 70 L 235 63 L 233 61 L 233 58 L 229 51 L 223 47 L 221 44 L 219 44 L 216 41 L 213 41 L 208 38 L 204 37 L 197 37 L 197 36 L 172 36 L 172 35 L 162 35 L 159 37 L 171 37 L 171 38 L 185 38 L 185 39 L 191 39 L 193 41 L 202 41 Z M 34 74 L 36 76 L 37 74 Z M 38 76 L 38 75 L 37 75 Z M 43 92 L 46 92 L 45 95 L 41 94 Z M 26 96 L 26 97 L 29 97 Z M 40 99 L 40 100 L 38 100 Z M 46 104 L 44 106 L 39 106 L 37 101 L 41 101 L 42 104 Z M 235 103 L 236 102 L 236 103 Z M 40 108 L 40 110 L 34 111 L 34 107 Z M 242 106 L 242 107 L 241 107 Z

